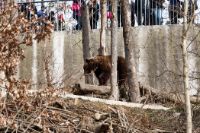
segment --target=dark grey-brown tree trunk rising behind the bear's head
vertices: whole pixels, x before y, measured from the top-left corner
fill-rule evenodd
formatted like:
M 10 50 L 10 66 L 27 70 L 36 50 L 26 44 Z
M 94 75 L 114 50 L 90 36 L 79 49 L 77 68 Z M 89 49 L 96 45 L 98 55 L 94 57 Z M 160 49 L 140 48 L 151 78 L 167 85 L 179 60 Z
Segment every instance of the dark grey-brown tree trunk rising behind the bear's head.
M 83 44 L 83 59 L 84 63 L 86 59 L 91 57 L 90 54 L 90 21 L 89 21 L 89 9 L 88 5 L 83 2 L 81 6 L 81 17 L 82 17 L 82 44 Z M 93 75 L 85 75 L 85 83 L 93 84 Z

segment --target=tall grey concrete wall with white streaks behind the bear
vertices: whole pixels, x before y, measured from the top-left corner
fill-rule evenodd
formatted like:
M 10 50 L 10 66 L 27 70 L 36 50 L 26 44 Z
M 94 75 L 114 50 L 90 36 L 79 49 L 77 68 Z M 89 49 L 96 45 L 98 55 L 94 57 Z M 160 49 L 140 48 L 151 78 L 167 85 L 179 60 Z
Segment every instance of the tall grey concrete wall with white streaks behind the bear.
M 190 76 L 200 77 L 200 31 L 191 27 L 188 37 Z M 119 55 L 124 55 L 122 29 L 118 32 Z M 131 30 L 131 42 L 135 52 L 139 81 L 158 89 L 181 90 L 183 88 L 182 27 L 151 26 L 135 27 Z M 193 38 L 196 37 L 194 41 Z M 91 52 L 97 54 L 99 46 L 99 30 L 91 32 Z M 107 31 L 107 52 L 110 53 L 110 31 Z M 50 59 L 52 79 L 57 86 L 65 86 L 66 79 L 78 71 L 82 71 L 82 36 L 81 32 L 54 32 L 52 37 L 33 47 L 26 47 L 26 58 L 19 66 L 19 78 L 31 79 L 36 88 L 46 83 L 44 59 Z M 194 54 L 195 53 L 195 54 Z M 198 55 L 199 54 L 199 55 Z M 196 56 L 198 55 L 198 56 Z M 62 82 L 63 81 L 63 82 Z M 190 81 L 191 89 L 198 89 L 199 79 Z M 195 91 L 192 91 L 193 93 Z

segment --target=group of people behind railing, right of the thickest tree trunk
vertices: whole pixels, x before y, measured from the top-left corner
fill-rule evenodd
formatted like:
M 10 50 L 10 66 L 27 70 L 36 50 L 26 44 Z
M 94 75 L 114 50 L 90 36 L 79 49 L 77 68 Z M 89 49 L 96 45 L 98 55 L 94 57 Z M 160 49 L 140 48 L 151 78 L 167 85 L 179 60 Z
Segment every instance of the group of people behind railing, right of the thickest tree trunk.
M 166 2 L 168 6 L 166 7 Z M 197 0 L 189 0 L 188 21 L 194 21 L 194 11 L 198 9 Z M 120 6 L 120 5 L 119 5 Z M 131 1 L 132 26 L 138 25 L 162 25 L 163 10 L 168 8 L 169 23 L 178 24 L 178 19 L 183 17 L 183 0 L 134 0 Z M 120 12 L 120 11 L 118 11 Z M 118 22 L 120 22 L 118 20 Z

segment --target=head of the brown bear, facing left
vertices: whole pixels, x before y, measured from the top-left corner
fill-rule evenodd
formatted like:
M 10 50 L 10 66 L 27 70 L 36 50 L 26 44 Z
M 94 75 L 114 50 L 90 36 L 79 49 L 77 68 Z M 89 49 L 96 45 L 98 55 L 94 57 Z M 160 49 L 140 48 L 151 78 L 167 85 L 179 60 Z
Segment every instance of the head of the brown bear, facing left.
M 89 74 L 92 71 L 95 71 L 97 68 L 98 68 L 98 62 L 96 61 L 96 59 L 91 58 L 85 60 L 85 64 L 83 66 L 84 74 Z

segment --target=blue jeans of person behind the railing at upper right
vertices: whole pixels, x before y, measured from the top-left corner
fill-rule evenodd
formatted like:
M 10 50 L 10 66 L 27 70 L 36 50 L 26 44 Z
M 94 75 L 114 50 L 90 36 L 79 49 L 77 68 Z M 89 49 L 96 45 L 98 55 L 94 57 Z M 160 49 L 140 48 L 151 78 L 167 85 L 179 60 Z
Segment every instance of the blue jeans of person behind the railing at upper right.
M 162 25 L 162 8 L 153 8 L 153 25 Z

